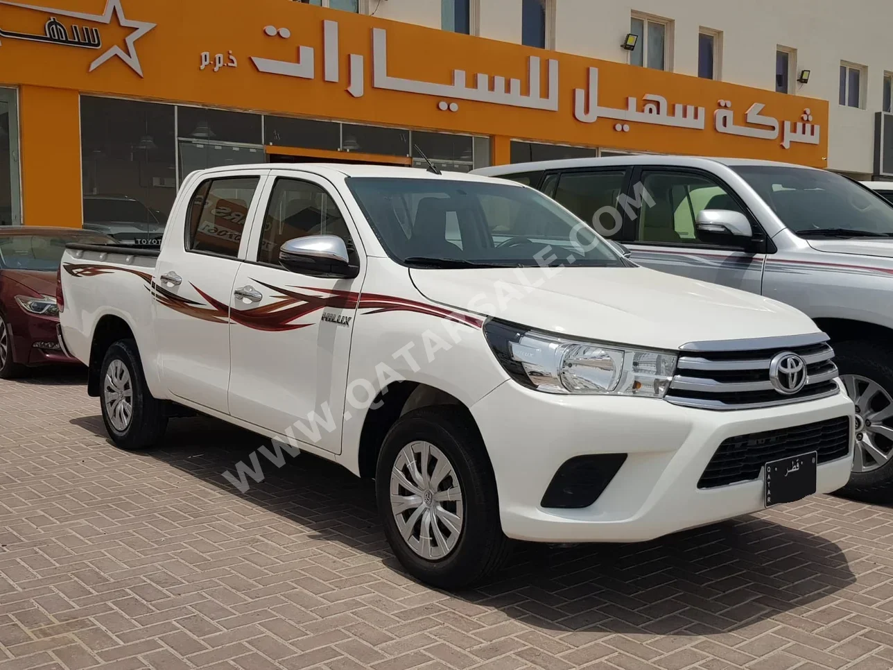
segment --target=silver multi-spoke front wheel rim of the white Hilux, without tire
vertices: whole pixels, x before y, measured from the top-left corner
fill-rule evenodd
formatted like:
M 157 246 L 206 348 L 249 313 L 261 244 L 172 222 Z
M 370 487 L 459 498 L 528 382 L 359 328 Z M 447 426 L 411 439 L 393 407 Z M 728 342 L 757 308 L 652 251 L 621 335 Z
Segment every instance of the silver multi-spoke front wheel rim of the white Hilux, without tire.
M 406 544 L 439 560 L 455 549 L 463 528 L 463 494 L 453 464 L 430 442 L 411 442 L 391 468 L 391 513 Z

